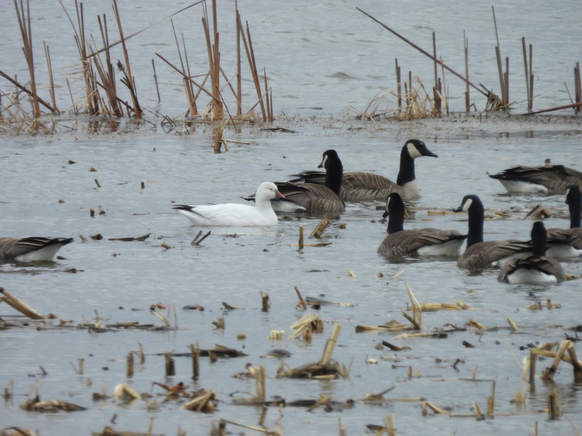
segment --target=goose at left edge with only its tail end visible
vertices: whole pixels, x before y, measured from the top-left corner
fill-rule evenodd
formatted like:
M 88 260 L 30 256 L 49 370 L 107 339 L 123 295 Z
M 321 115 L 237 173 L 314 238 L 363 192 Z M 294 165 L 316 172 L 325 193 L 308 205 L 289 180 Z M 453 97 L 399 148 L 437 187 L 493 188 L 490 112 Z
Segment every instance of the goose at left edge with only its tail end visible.
M 0 261 L 40 262 L 52 260 L 59 249 L 73 238 L 0 238 Z

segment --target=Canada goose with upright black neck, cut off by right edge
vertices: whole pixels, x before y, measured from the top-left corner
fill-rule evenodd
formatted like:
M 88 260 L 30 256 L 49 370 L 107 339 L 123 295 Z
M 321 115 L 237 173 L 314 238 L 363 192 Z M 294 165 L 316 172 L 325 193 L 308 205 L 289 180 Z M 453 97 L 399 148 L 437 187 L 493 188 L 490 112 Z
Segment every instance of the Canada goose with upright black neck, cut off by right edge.
M 568 185 L 566 203 L 570 209 L 570 228 L 548 228 L 547 253 L 552 258 L 582 255 L 582 194 L 578 185 Z

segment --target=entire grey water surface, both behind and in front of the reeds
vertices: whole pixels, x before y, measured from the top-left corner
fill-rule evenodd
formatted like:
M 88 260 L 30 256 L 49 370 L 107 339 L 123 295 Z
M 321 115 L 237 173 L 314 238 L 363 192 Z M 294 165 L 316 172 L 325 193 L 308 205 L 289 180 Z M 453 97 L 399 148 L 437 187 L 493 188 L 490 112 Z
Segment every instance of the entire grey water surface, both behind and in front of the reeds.
M 126 34 L 187 5 L 184 2 L 167 4 L 163 10 L 155 2 L 141 2 L 139 8 L 131 10 L 125 9 L 125 2 L 119 5 Z M 233 7 L 233 3 L 228 4 Z M 42 9 L 42 17 L 34 12 L 37 5 L 47 6 Z M 520 66 L 519 38 L 522 35 L 528 41 L 531 38 L 534 56 L 539 56 L 535 59 L 540 59 L 539 69 L 536 67 L 539 85 L 536 82 L 535 87 L 542 90 L 562 80 L 570 81 L 571 63 L 579 56 L 577 46 L 568 44 L 568 41 L 580 40 L 579 26 L 574 23 L 577 3 L 560 3 L 560 10 L 545 2 L 527 3 L 527 20 L 522 19 L 524 5 L 513 2 L 512 6 L 496 9 L 502 49 L 507 47 L 509 51 L 512 47 L 512 62 Z M 456 2 L 451 2 L 448 8 L 419 5 L 417 10 L 400 4 L 391 5 L 389 10 L 380 9 L 374 2 L 359 6 L 389 26 L 398 26 L 411 40 L 425 41 L 429 47 L 431 32 L 437 31 L 443 59 L 457 65 L 462 65 L 462 30 L 469 29 L 467 36 L 471 51 L 475 45 L 475 59 L 486 59 L 486 62 L 471 61 L 471 65 L 479 66 L 474 75 L 478 81 L 496 83 L 490 6 Z M 91 26 L 97 13 L 111 15 L 106 2 L 92 2 L 85 8 L 86 17 L 90 17 L 86 20 L 91 20 Z M 371 23 L 349 2 L 269 3 L 268 7 L 264 3 L 239 2 L 239 9 L 243 20 L 249 20 L 257 63 L 267 68 L 274 87 L 275 111 L 279 113 L 277 124 L 297 133 L 269 133 L 244 126 L 240 133 L 227 131 L 226 136 L 245 143 L 231 143 L 229 152 L 221 154 L 212 153 L 211 128 L 205 126 L 188 133 L 183 128 L 164 133 L 157 126 L 134 130 L 124 124 L 111 133 L 104 129 L 95 133 L 88 121 L 80 117 L 73 124 L 76 130 L 63 129 L 59 135 L 2 137 L 2 235 L 71 236 L 76 241 L 60 252 L 65 259 L 53 264 L 1 265 L 0 285 L 38 312 L 54 313 L 72 320 L 74 325 L 94 320 L 95 311 L 106 323 L 139 321 L 160 325 L 147 310 L 159 301 L 178 308 L 179 329 L 104 334 L 72 328 L 2 331 L 0 383 L 5 385 L 13 380 L 15 397 L 0 403 L 0 427 L 19 426 L 34 428 L 41 434 L 71 435 L 79 434 L 79 428 L 83 428 L 82 433 L 86 434 L 101 431 L 114 415 L 115 428 L 119 431 L 145 432 L 152 418 L 156 434 L 176 434 L 179 427 L 188 434 L 209 434 L 211 424 L 221 418 L 256 424 L 260 409 L 232 404 L 233 397 L 247 392 L 254 394 L 253 380 L 231 378 L 244 371 L 244 365 L 250 362 L 255 366 L 265 365 L 267 396 L 280 395 L 287 401 L 315 399 L 320 395 L 332 396 L 336 401 L 360 399 L 370 392 L 395 386 L 385 395 L 387 399 L 422 397 L 441 408 L 452 408 L 456 414 L 470 414 L 473 402 L 486 410 L 491 380 L 496 382 L 495 412 L 499 415 L 495 419 L 423 418 L 420 402 L 386 402 L 377 406 L 356 403 L 353 409 L 325 412 L 319 408 L 313 413 L 288 407 L 282 410 L 282 417 L 275 408 L 269 408 L 265 426 L 274 429 L 281 424 L 284 434 L 335 434 L 338 419 L 347 425 L 348 433 L 362 434 L 366 424 L 382 424 L 386 414 L 395 414 L 398 433 L 434 433 L 435 425 L 439 426 L 439 433 L 446 434 L 462 433 L 466 428 L 479 434 L 521 434 L 529 433 L 530 426 L 536 423 L 540 433 L 545 434 L 570 434 L 572 425 L 580 429 L 580 384 L 573 381 L 570 367 L 560 364 L 553 383 L 538 379 L 534 384 L 521 379 L 520 367 L 522 359 L 529 356 L 528 344 L 561 341 L 566 333 L 574 334 L 567 329 L 580 323 L 580 283 L 577 281 L 508 286 L 496 281 L 495 271 L 472 276 L 457 269 L 452 260 L 407 259 L 386 263 L 376 254 L 385 231 L 385 225 L 378 222 L 382 210 L 377 210 L 376 204 L 349 205 L 325 233 L 331 245 L 306 247 L 301 252 L 293 246 L 299 224 L 310 233 L 318 223 L 316 219 L 301 222 L 282 219 L 272 228 L 212 228 L 212 234 L 202 246 L 194 247 L 190 241 L 199 230 L 207 229 L 190 226 L 189 221 L 171 209 L 173 202 L 242 201 L 239 197 L 254 192 L 261 181 L 286 180 L 289 174 L 315 169 L 321 153 L 328 148 L 338 151 L 346 170 L 377 171 L 394 179 L 402 144 L 417 137 L 439 155 L 438 159 L 417 161 L 423 195 L 418 206 L 456 208 L 465 194 L 473 192 L 481 196 L 486 208 L 517 208 L 514 219 L 487 221 L 485 238 L 526 239 L 531 230 L 531 221 L 521 219 L 526 212 L 538 203 L 566 210 L 563 198 L 505 195 L 501 184 L 487 177 L 487 172 L 517 163 L 534 165 L 546 158 L 580 169 L 580 121 L 571 119 L 569 124 L 556 126 L 550 117 L 508 121 L 483 116 L 468 121 L 455 118 L 441 122 L 382 121 L 378 130 L 370 124 L 337 116 L 288 119 L 282 112 L 336 114 L 350 105 L 363 108 L 377 92 L 378 85 L 391 87 L 395 81 L 392 71 L 396 56 L 401 65 L 414 66 L 414 71 L 425 81 L 432 77 L 432 65 Z M 176 16 L 174 23 L 178 32 L 185 33 L 191 50 L 190 62 L 200 60 L 204 65 L 205 51 L 194 53 L 200 44 L 200 13 L 195 8 L 190 11 Z M 231 12 L 221 10 L 221 17 Z M 11 5 L 2 3 L 0 13 L 2 17 L 12 16 Z M 131 19 L 124 19 L 128 16 Z M 62 10 L 52 2 L 36 2 L 33 18 L 34 38 L 47 40 L 52 59 L 59 65 L 55 68 L 56 74 L 62 78 L 69 71 L 65 66 L 74 62 L 72 34 Z M 15 26 L 12 19 L 6 24 Z M 55 38 L 55 28 L 65 37 Z M 5 33 L 0 55 L 2 70 L 18 71 L 20 76 L 23 66 L 17 56 L 6 55 L 20 53 L 19 35 L 16 30 Z M 228 51 L 232 38 L 232 28 L 227 24 L 222 27 L 221 22 L 225 58 L 232 56 Z M 169 23 L 158 24 L 131 44 L 130 53 L 136 53 L 130 54 L 132 65 L 136 63 L 133 73 L 139 88 L 144 90 L 141 94 L 144 101 L 162 113 L 183 112 L 185 103 L 179 78 L 159 63 L 157 71 L 163 77 L 164 90 L 160 106 L 155 92 L 151 92 L 153 52 L 175 53 Z M 555 49 L 558 44 L 560 50 Z M 449 49 L 450 54 L 445 55 Z M 535 59 L 534 65 L 538 65 Z M 516 81 L 521 74 L 517 65 L 512 69 Z M 421 74 L 421 68 L 427 72 Z M 516 88 L 517 93 L 517 85 Z M 453 92 L 451 84 L 453 94 L 460 95 Z M 251 91 L 248 98 L 253 101 Z M 534 108 L 559 105 L 565 98 L 563 91 L 552 91 L 541 97 L 540 103 L 534 103 Z M 59 99 L 63 108 L 69 104 L 64 88 Z M 91 167 L 98 171 L 91 172 Z M 141 182 L 145 184 L 143 189 Z M 91 208 L 105 213 L 91 217 Z M 338 227 L 342 223 L 346 224 L 345 229 Z M 405 225 L 459 231 L 467 228 L 464 215 L 429 216 L 425 210 L 419 210 Z M 546 221 L 548 227 L 567 225 L 568 221 L 563 218 L 552 217 Z M 150 232 L 145 242 L 107 239 L 137 237 Z M 79 237 L 95 234 L 102 234 L 105 239 L 81 242 Z M 173 248 L 164 250 L 162 243 Z M 71 268 L 79 272 L 66 272 Z M 384 277 L 378 277 L 381 270 Z M 582 263 L 567 263 L 566 270 L 582 274 Z M 393 277 L 398 273 L 398 277 Z M 424 332 L 449 328 L 449 324 L 464 326 L 470 318 L 487 327 L 504 328 L 490 328 L 482 334 L 468 328 L 466 332 L 450 334 L 447 339 L 355 333 L 355 326 L 360 324 L 376 326 L 392 319 L 404 322 L 401 311 L 409 305 L 406 284 L 421 302 L 464 301 L 474 309 L 424 313 Z M 354 307 L 324 306 L 317 312 L 325 320 L 325 328 L 324 333 L 314 335 L 312 344 L 290 339 L 268 341 L 271 330 L 285 330 L 286 336 L 289 335 L 289 326 L 304 313 L 295 308 L 294 287 L 304 296 L 325 295 L 322 298 L 354 303 Z M 271 298 L 268 313 L 261 312 L 261 291 L 268 292 Z M 547 298 L 560 303 L 562 308 L 527 309 Z M 223 312 L 222 302 L 242 309 Z M 180 309 L 192 303 L 204 306 L 204 312 Z M 0 306 L 0 316 L 12 313 L 8 306 Z M 212 321 L 221 316 L 226 324 L 223 331 L 212 326 Z M 512 334 L 505 328 L 509 317 L 520 327 L 517 333 Z M 353 359 L 349 380 L 274 378 L 279 362 L 261 356 L 282 348 L 292 353 L 285 360 L 290 367 L 315 362 L 320 359 L 335 323 L 342 330 L 333 359 L 346 365 Z M 237 334 L 241 333 L 246 334 L 244 341 L 237 340 Z M 375 348 L 383 340 L 408 345 L 410 350 L 395 353 Z M 248 356 L 219 359 L 216 363 L 201 359 L 200 379 L 196 383 L 190 380 L 190 359 L 176 358 L 176 376 L 165 379 L 164 358 L 158 353 L 187 352 L 187 347 L 196 341 L 200 341 L 201 348 L 221 344 L 240 349 Z M 465 348 L 463 341 L 475 348 Z M 138 342 L 143 344 L 147 358 L 128 379 L 125 358 L 129 351 L 138 348 Z M 367 364 L 366 357 L 378 359 L 379 363 Z M 85 359 L 82 375 L 75 374 L 71 367 L 79 358 Z M 456 359 L 461 363 L 453 369 L 451 365 Z M 549 359 L 538 362 L 538 372 L 550 363 Z M 47 376 L 40 376 L 39 365 L 47 371 Z M 409 370 L 414 377 L 409 378 Z M 473 374 L 477 380 L 487 381 L 467 381 Z M 19 404 L 26 399 L 35 381 L 40 385 L 41 399 L 63 399 L 87 410 L 58 414 L 20 410 Z M 122 406 L 111 399 L 91 400 L 93 392 L 105 391 L 111 395 L 113 387 L 121 382 L 129 383 L 139 392 L 159 394 L 159 388 L 152 388 L 154 381 L 168 384 L 183 381 L 190 384 L 189 390 L 212 389 L 217 392 L 219 411 L 212 415 L 186 412 L 178 409 L 179 403 L 164 402 L 159 396 L 157 410 L 148 410 L 149 401 Z M 548 421 L 547 413 L 541 412 L 547 404 L 546 396 L 553 389 L 558 391 L 560 404 L 572 424 L 565 417 Z M 510 403 L 518 392 L 527 395 L 526 404 L 521 408 Z M 228 430 L 241 429 L 228 426 Z

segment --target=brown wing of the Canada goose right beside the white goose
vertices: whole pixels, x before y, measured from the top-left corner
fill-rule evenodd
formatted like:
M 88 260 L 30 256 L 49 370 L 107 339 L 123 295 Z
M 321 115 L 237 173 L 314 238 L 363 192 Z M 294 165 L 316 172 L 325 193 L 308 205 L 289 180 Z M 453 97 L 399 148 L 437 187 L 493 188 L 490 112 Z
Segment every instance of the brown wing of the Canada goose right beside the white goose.
M 285 199 L 303 206 L 307 212 L 318 215 L 345 212 L 346 205 L 331 189 L 314 183 L 276 183 Z

